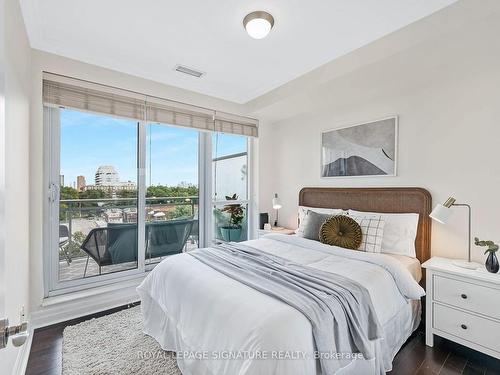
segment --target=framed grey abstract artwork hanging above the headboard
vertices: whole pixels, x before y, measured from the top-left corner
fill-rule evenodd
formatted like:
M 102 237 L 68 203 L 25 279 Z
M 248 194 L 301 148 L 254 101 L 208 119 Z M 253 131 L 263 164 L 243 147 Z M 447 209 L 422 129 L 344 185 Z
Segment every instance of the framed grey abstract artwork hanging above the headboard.
M 398 118 L 321 134 L 321 177 L 395 176 Z

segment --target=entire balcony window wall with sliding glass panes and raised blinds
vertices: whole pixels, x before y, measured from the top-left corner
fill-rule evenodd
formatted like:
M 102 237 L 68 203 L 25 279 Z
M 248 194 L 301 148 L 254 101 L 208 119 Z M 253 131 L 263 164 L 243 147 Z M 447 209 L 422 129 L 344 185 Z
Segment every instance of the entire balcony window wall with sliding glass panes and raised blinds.
M 250 238 L 255 121 L 52 74 L 43 86 L 46 296 Z

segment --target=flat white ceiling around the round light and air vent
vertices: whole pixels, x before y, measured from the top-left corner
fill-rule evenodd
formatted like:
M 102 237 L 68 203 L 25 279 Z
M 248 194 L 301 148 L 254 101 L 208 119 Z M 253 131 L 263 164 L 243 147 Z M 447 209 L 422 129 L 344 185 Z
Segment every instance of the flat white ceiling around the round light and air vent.
M 245 103 L 456 0 L 21 0 L 33 48 Z M 243 17 L 266 10 L 269 36 Z M 206 72 L 174 71 L 184 64 Z

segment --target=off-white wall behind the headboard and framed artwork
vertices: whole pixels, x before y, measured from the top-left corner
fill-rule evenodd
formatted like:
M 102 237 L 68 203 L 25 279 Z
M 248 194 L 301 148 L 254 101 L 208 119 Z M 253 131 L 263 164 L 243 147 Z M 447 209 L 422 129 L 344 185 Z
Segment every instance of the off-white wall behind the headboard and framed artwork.
M 304 186 L 418 186 L 473 208 L 473 235 L 500 242 L 500 9 L 462 1 L 250 103 L 261 128 L 260 210 L 296 226 Z M 333 46 L 330 46 L 333 48 Z M 320 133 L 399 115 L 397 177 L 320 178 Z M 466 257 L 466 212 L 433 225 L 433 255 Z M 473 258 L 483 260 L 473 247 Z

